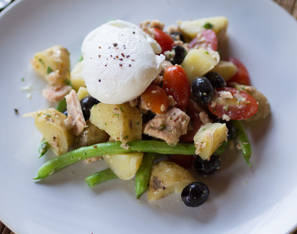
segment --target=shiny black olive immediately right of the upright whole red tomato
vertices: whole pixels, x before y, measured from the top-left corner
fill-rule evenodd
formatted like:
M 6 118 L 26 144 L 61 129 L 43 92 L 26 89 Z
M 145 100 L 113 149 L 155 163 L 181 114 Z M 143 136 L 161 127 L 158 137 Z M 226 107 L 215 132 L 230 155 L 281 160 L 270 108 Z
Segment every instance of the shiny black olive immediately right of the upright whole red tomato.
M 201 103 L 208 103 L 214 95 L 214 88 L 210 81 L 205 77 L 197 77 L 192 82 L 192 93 L 196 99 Z

